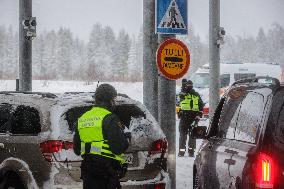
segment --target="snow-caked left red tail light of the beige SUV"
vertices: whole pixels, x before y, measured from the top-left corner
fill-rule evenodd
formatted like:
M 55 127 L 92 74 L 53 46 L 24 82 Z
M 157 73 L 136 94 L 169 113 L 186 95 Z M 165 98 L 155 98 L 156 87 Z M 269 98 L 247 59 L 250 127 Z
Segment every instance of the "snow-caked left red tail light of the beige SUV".
M 45 141 L 40 143 L 40 150 L 45 160 L 49 162 L 74 162 L 81 160 L 73 152 L 73 143 L 68 141 Z

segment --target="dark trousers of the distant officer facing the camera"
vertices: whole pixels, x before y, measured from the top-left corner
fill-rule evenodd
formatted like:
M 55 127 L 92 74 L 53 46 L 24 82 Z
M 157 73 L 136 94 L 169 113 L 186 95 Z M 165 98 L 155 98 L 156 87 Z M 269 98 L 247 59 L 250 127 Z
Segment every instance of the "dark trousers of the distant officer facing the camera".
M 188 139 L 188 148 L 195 149 L 196 148 L 196 139 L 191 137 L 191 131 L 194 118 L 181 116 L 179 122 L 179 149 L 186 149 L 186 138 Z

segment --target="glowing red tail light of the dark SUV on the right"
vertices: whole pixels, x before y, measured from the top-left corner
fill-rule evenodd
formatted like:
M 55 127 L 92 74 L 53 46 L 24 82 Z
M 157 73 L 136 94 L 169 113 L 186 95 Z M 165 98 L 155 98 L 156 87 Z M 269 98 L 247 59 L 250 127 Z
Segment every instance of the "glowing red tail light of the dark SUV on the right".
M 257 157 L 255 188 L 273 188 L 275 181 L 275 169 L 276 167 L 273 159 L 264 153 L 260 153 Z

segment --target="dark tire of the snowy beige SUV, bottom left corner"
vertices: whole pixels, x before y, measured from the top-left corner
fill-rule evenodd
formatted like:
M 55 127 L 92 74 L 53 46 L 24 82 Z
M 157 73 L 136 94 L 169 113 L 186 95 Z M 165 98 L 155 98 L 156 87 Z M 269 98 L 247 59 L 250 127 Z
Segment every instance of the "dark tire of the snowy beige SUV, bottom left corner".
M 0 182 L 0 186 L 5 189 L 25 189 L 20 177 L 13 172 L 5 174 L 4 178 Z

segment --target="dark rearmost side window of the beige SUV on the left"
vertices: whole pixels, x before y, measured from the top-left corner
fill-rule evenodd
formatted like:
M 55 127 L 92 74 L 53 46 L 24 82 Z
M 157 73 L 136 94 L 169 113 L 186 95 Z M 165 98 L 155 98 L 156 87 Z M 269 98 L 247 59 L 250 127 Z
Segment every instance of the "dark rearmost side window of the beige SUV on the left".
M 12 134 L 35 135 L 41 131 L 40 116 L 38 111 L 33 107 L 17 106 L 11 120 Z

